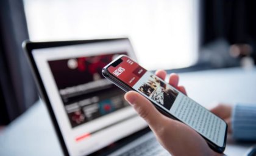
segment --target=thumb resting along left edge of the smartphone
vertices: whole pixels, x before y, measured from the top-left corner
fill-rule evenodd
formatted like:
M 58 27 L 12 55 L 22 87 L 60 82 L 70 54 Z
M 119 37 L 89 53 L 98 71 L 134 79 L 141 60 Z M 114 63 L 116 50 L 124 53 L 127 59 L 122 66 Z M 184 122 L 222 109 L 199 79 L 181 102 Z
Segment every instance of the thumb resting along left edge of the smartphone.
M 149 124 L 151 129 L 156 130 L 162 127 L 161 124 L 165 116 L 158 112 L 151 101 L 135 91 L 127 92 L 124 98 L 133 106 L 138 115 Z

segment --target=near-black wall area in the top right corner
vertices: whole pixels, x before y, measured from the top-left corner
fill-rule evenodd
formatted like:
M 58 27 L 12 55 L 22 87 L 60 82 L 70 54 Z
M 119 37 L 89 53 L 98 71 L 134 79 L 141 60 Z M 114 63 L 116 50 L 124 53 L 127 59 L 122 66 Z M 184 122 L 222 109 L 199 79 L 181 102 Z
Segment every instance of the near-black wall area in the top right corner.
M 230 44 L 255 42 L 256 1 L 205 0 L 201 1 L 201 46 L 217 38 Z

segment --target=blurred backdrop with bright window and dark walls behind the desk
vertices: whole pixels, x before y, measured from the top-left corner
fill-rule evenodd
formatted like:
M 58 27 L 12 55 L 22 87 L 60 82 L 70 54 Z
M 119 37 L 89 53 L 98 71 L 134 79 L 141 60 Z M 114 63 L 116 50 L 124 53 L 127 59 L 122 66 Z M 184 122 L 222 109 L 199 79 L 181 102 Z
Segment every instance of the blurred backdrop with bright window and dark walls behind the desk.
M 38 100 L 21 47 L 25 39 L 127 36 L 138 62 L 149 70 L 251 69 L 255 7 L 247 0 L 1 0 L 0 125 Z

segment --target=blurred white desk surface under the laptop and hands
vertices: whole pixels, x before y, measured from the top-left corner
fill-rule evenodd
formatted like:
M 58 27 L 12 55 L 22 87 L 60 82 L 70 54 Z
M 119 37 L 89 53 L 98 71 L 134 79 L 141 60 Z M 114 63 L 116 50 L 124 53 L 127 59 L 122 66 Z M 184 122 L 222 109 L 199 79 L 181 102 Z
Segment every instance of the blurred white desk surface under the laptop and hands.
M 218 101 L 256 103 L 256 69 L 207 70 L 180 74 L 188 95 L 210 108 Z M 251 146 L 228 139 L 225 153 L 243 155 Z M 0 134 L 0 155 L 62 155 L 46 106 L 38 101 Z

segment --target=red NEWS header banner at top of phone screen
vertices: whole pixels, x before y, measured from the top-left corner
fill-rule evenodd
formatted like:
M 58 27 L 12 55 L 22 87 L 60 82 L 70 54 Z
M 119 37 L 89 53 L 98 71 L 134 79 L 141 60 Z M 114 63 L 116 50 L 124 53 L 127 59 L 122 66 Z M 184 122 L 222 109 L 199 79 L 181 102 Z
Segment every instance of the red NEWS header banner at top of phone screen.
M 118 64 L 118 66 L 108 67 L 108 72 L 132 87 L 138 80 L 140 80 L 147 70 L 127 57 L 122 57 L 121 59 L 123 61 Z

